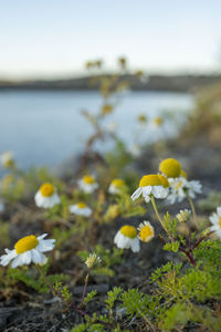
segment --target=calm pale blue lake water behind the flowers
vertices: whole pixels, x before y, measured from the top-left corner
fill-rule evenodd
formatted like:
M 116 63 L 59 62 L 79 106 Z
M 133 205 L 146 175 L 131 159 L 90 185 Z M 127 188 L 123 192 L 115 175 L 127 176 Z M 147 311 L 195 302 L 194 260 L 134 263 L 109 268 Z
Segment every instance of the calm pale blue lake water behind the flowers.
M 99 105 L 97 92 L 1 92 L 0 153 L 14 152 L 22 168 L 56 166 L 81 152 L 93 132 L 81 111 L 94 113 Z M 117 133 L 127 145 L 139 135 L 140 141 L 156 141 L 160 133 L 151 126 L 141 128 L 136 121 L 138 114 L 152 118 L 170 111 L 180 124 L 191 105 L 192 97 L 188 94 L 128 92 L 115 113 L 107 116 L 105 125 L 116 122 Z M 176 135 L 177 127 L 168 123 L 164 132 Z

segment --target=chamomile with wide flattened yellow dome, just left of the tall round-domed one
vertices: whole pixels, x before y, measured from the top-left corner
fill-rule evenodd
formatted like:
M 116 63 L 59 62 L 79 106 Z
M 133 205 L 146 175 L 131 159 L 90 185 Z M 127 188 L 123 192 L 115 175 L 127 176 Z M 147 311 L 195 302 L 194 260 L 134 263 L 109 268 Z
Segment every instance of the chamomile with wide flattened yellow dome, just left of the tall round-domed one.
M 140 195 L 144 196 L 146 203 L 150 201 L 151 195 L 155 198 L 166 198 L 169 193 L 169 183 L 162 175 L 150 174 L 145 175 L 139 181 L 139 188 L 131 195 L 131 199 L 137 199 Z

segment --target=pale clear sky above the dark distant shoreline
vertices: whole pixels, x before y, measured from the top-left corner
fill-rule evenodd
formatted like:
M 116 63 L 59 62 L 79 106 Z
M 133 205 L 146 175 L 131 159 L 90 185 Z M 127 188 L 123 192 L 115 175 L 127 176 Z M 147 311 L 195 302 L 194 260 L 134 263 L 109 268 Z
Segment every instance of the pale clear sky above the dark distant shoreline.
M 214 71 L 221 60 L 220 0 L 0 0 L 0 79 L 107 70 Z M 219 59 L 220 56 L 220 59 Z

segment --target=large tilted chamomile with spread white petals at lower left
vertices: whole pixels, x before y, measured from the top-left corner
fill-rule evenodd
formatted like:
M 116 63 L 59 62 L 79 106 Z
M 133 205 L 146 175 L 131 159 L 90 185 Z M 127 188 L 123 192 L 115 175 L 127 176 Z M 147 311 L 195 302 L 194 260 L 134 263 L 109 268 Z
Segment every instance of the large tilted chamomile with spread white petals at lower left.
M 51 251 L 54 248 L 54 239 L 44 240 L 46 234 L 40 237 L 33 235 L 20 239 L 13 250 L 4 249 L 7 255 L 0 257 L 0 264 L 8 266 L 12 260 L 11 267 L 17 268 L 23 264 L 44 264 L 46 257 L 43 252 Z

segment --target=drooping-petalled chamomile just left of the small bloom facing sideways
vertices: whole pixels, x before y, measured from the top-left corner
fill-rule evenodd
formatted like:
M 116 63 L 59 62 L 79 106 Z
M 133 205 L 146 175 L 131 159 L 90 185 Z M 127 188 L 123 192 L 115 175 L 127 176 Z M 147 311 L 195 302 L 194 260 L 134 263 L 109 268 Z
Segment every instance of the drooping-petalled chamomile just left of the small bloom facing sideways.
M 116 234 L 114 238 L 115 245 L 120 249 L 131 249 L 133 252 L 138 252 L 139 239 L 137 230 L 134 226 L 125 225 Z

